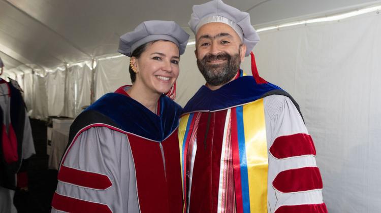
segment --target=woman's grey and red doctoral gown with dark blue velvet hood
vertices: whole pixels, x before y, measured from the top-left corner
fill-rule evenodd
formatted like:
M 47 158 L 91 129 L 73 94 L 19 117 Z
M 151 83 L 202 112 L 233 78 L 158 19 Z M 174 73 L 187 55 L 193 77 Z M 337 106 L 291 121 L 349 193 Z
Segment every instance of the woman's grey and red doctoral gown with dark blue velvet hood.
M 52 212 L 181 212 L 181 107 L 165 95 L 154 114 L 119 88 L 70 128 Z

